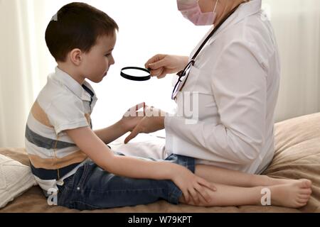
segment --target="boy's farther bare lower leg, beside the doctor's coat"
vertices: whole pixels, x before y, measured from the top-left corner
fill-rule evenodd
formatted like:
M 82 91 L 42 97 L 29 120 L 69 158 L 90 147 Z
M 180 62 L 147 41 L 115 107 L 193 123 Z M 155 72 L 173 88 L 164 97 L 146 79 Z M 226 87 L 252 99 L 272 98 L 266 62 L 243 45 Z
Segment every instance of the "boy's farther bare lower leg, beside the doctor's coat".
M 215 167 L 213 165 L 196 165 L 195 174 L 209 182 L 237 187 L 272 186 L 297 181 L 295 179 L 275 179 L 266 175 L 251 175 L 240 171 Z

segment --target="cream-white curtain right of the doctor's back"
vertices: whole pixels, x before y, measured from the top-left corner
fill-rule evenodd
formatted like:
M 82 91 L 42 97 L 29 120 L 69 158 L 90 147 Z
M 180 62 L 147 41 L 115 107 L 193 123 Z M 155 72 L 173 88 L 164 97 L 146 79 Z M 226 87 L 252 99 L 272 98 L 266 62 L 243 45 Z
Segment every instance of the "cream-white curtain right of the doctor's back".
M 320 1 L 265 0 L 279 45 L 276 120 L 320 111 Z

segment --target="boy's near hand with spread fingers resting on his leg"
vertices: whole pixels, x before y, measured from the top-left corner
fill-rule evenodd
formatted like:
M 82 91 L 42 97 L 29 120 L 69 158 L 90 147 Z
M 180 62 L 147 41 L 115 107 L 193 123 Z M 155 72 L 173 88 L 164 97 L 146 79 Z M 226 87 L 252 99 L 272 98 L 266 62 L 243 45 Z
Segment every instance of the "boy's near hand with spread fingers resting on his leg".
M 199 204 L 202 200 L 200 196 L 209 203 L 210 195 L 206 191 L 206 188 L 213 192 L 217 191 L 216 187 L 212 183 L 194 175 L 190 170 L 182 166 L 179 166 L 179 170 L 174 171 L 172 181 L 179 189 L 181 189 L 184 200 L 187 203 L 192 199 L 195 204 Z

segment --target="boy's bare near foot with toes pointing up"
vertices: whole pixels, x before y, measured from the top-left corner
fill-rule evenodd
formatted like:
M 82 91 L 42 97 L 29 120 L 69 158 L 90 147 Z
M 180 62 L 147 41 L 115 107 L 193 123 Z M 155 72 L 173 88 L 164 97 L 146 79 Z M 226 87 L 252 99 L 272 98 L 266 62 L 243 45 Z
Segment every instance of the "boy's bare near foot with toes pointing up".
M 299 208 L 306 206 L 310 199 L 311 181 L 299 179 L 289 184 L 279 184 L 270 187 L 271 203 L 276 206 Z

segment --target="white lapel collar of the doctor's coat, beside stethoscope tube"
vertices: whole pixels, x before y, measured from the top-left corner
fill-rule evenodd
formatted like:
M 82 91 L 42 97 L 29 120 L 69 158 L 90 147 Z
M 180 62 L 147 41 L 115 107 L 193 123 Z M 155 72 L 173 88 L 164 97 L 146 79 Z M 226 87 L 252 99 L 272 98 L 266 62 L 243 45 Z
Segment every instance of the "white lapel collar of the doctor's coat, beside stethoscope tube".
M 223 31 L 226 31 L 228 27 L 232 26 L 235 23 L 238 23 L 239 21 L 242 21 L 244 18 L 251 16 L 255 13 L 258 13 L 261 11 L 262 6 L 262 0 L 251 0 L 248 2 L 245 2 L 243 4 L 240 4 L 239 8 L 233 13 L 233 15 L 228 18 L 225 23 L 218 29 L 218 31 L 215 32 L 215 35 L 208 41 L 208 44 L 213 43 L 214 40 L 217 39 L 218 35 L 220 33 L 223 33 Z

